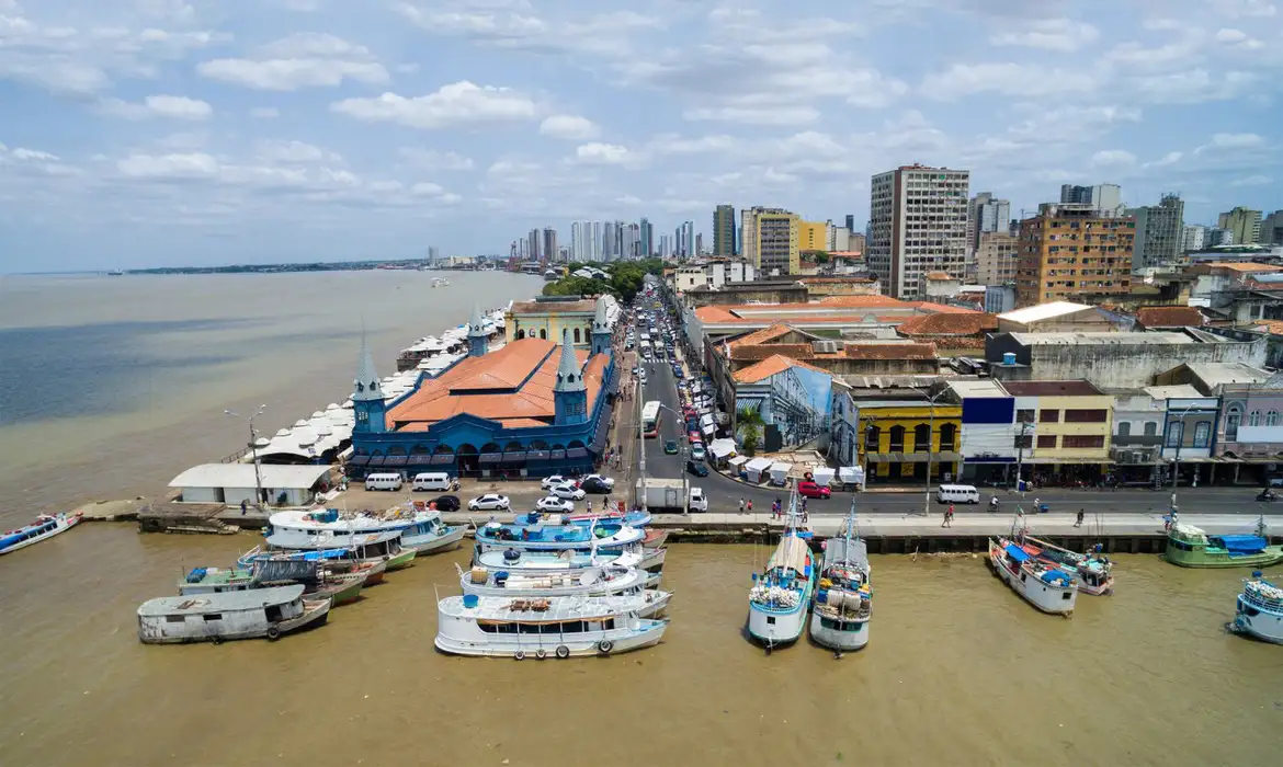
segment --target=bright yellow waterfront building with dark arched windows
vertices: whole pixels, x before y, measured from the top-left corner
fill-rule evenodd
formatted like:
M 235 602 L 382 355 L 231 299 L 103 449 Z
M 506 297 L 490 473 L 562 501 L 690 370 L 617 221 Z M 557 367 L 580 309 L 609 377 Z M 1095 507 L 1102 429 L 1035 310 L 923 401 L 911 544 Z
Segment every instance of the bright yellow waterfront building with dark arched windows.
M 962 405 L 922 400 L 862 400 L 860 460 L 870 482 L 957 481 L 962 468 Z M 934 413 L 934 416 L 933 416 Z

